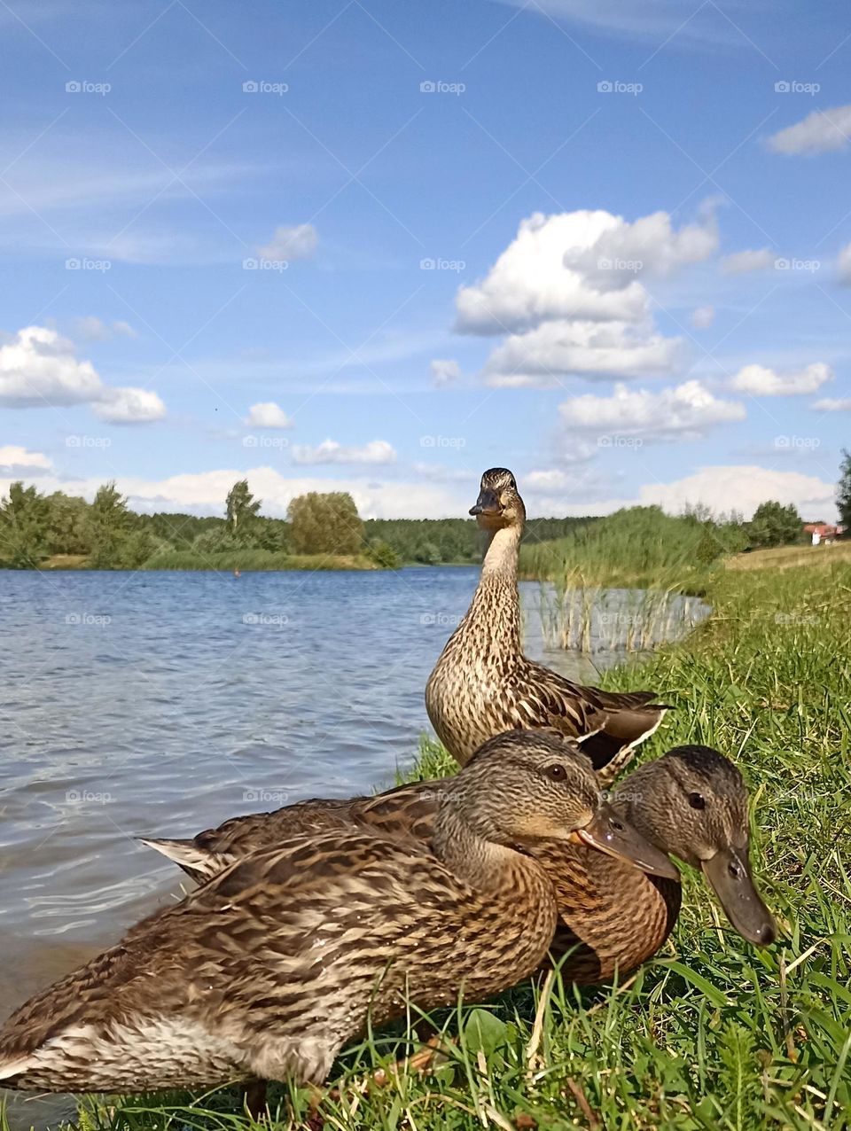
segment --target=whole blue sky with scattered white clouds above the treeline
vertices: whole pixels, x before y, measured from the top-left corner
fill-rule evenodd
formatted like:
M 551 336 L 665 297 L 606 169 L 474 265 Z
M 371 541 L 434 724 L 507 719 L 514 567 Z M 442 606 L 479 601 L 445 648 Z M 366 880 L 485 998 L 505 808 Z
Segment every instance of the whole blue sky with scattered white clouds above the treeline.
M 844 17 L 844 18 L 843 18 Z M 839 3 L 9 0 L 0 489 L 765 498 L 851 409 Z

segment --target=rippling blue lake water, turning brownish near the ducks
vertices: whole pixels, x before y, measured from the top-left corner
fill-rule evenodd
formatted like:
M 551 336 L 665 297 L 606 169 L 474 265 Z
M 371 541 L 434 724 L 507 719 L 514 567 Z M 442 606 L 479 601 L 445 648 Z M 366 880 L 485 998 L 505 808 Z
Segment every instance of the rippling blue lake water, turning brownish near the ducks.
M 393 784 L 478 577 L 0 572 L 0 1019 L 180 890 L 136 836 Z M 547 649 L 521 588 L 530 655 L 619 658 Z

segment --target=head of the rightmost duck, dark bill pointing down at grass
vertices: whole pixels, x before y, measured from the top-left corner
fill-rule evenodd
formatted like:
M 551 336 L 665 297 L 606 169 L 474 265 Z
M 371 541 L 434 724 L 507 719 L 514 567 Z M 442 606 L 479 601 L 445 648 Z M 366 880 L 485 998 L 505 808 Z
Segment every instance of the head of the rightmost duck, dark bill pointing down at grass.
M 614 802 L 654 845 L 700 869 L 742 938 L 774 942 L 750 867 L 748 793 L 731 761 L 711 746 L 677 746 L 631 774 Z

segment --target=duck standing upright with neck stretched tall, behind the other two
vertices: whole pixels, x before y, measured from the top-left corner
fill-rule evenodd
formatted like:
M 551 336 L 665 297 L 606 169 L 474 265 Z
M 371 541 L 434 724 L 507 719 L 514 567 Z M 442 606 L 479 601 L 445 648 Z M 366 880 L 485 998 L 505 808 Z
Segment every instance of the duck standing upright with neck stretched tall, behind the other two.
M 487 534 L 488 549 L 470 608 L 425 685 L 431 725 L 461 766 L 493 734 L 556 727 L 582 742 L 603 780 L 613 780 L 670 707 L 653 691 L 583 687 L 527 659 L 517 590 L 526 508 L 512 472 L 484 472 L 470 513 Z

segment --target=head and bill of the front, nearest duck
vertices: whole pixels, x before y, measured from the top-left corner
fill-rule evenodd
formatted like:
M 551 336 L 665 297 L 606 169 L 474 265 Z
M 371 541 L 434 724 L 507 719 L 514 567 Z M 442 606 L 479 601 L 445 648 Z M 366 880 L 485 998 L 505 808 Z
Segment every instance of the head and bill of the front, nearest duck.
M 646 872 L 679 875 L 665 854 L 603 800 L 591 759 L 547 731 L 508 731 L 490 739 L 448 795 L 483 839 L 514 847 L 570 840 Z

